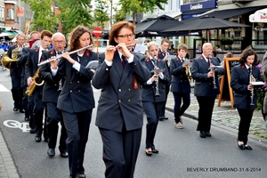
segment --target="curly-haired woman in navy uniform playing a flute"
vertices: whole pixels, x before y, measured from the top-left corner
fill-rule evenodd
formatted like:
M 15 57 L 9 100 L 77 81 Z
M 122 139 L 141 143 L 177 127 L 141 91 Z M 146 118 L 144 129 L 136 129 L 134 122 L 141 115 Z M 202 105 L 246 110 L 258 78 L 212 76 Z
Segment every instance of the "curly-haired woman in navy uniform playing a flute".
M 71 31 L 70 52 L 89 44 L 93 44 L 93 37 L 88 28 L 77 26 Z M 62 53 L 61 56 L 59 65 L 57 61 L 51 61 L 50 64 L 54 77 L 57 75 L 65 77 L 57 107 L 61 109 L 68 134 L 66 142 L 69 152 L 70 177 L 86 177 L 85 146 L 88 140 L 94 99 L 91 85 L 93 71 L 85 67 L 90 61 L 97 61 L 97 53 L 84 49 L 72 54 Z

